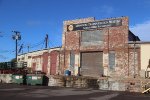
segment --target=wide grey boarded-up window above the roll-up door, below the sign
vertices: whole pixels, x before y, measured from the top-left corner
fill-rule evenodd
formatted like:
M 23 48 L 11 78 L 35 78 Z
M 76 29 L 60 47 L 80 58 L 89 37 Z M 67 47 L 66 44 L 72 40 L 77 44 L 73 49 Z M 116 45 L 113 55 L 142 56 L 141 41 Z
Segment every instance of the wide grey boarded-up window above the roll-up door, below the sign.
M 84 31 L 81 33 L 81 45 L 101 45 L 104 40 L 104 32 L 102 30 Z

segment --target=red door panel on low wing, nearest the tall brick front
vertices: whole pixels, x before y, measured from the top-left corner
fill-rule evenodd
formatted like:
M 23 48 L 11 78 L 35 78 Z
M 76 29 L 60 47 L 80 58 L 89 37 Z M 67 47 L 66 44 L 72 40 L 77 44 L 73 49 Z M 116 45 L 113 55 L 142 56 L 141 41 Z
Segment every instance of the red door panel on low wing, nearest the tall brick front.
M 50 74 L 51 75 L 56 74 L 56 69 L 57 69 L 57 64 L 58 64 L 58 56 L 59 56 L 58 51 L 52 51 L 50 53 Z

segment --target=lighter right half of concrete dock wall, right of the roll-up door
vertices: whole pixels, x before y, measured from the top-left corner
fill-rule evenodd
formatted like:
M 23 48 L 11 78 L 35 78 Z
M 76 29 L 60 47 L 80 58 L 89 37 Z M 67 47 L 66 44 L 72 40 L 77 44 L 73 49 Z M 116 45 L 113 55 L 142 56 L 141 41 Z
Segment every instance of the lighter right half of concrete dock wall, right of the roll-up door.
M 145 84 L 150 82 L 150 79 L 142 78 L 100 78 L 98 79 L 99 89 L 113 91 L 129 91 L 142 92 Z

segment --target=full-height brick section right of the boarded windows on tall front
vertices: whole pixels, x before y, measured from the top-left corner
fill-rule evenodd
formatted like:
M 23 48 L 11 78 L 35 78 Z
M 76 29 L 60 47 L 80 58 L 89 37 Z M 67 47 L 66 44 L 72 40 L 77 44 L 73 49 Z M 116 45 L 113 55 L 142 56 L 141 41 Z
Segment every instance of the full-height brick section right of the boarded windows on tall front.
M 112 76 L 128 75 L 128 17 L 122 18 L 122 26 L 108 28 L 108 51 L 113 50 L 116 53 L 115 70 Z M 108 53 L 108 52 L 107 52 Z

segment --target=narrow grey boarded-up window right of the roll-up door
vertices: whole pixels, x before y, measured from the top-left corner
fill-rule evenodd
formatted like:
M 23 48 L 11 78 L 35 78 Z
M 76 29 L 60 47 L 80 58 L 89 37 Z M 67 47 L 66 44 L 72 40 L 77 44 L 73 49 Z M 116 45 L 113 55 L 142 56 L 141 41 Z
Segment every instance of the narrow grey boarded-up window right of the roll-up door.
M 115 51 L 109 52 L 109 68 L 110 69 L 115 68 Z

